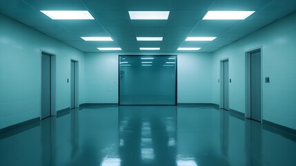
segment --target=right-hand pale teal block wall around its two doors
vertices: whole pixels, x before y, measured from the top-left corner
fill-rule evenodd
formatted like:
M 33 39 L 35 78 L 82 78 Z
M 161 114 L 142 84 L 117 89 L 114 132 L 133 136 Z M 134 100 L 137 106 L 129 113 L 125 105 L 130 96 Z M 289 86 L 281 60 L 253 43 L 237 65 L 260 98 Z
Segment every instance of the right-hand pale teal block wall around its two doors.
M 230 109 L 245 113 L 245 53 L 262 47 L 263 119 L 296 129 L 295 19 L 289 15 L 213 53 L 214 103 L 219 104 L 219 59 L 228 57 Z

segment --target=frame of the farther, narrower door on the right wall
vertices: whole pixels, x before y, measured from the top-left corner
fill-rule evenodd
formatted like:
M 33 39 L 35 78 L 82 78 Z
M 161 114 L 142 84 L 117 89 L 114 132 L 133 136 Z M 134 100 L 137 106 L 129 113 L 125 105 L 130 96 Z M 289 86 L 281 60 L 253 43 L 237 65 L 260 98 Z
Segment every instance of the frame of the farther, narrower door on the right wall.
M 220 104 L 219 109 L 224 109 L 224 62 L 228 61 L 228 77 L 229 77 L 229 57 L 219 60 L 220 73 L 219 73 L 219 84 L 220 84 Z M 229 87 L 228 87 L 228 109 L 229 109 Z

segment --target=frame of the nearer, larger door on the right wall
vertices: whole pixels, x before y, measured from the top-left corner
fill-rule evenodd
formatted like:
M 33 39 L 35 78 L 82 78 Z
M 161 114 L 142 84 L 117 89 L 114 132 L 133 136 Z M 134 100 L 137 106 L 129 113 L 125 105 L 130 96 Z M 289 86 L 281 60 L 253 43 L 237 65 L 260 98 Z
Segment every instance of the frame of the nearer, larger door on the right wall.
M 251 118 L 251 111 L 250 111 L 250 55 L 251 53 L 255 53 L 257 51 L 260 51 L 260 56 L 261 56 L 261 123 L 263 119 L 263 49 L 262 46 L 259 46 L 257 48 L 253 48 L 251 50 L 246 51 L 245 53 L 245 62 L 246 62 L 246 68 L 245 68 L 245 84 L 246 84 L 246 89 L 245 89 L 245 94 L 246 94 L 246 113 L 245 113 L 245 118 Z

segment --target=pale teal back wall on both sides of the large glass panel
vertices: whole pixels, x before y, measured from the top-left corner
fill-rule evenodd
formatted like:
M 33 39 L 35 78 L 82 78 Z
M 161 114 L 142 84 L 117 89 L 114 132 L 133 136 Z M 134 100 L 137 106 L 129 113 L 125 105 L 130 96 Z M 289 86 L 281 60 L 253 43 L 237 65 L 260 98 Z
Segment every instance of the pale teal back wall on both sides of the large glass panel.
M 211 53 L 86 53 L 86 103 L 118 103 L 118 55 L 177 55 L 178 103 L 212 103 Z

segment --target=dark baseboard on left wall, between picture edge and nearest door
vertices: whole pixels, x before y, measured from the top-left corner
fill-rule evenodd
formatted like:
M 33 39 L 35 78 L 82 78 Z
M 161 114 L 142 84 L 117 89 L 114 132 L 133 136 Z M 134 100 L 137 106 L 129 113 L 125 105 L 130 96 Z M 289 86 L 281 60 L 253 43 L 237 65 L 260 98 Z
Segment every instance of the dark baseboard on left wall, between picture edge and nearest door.
M 31 129 L 32 127 L 35 127 L 36 125 L 29 125 L 29 124 L 37 124 L 37 125 L 39 125 L 39 122 L 40 122 L 40 117 L 37 117 L 37 118 L 33 118 L 31 120 L 26 120 L 25 122 L 20 122 L 20 123 L 17 123 L 17 124 L 13 124 L 12 126 L 0 129 L 0 136 L 1 135 L 6 135 L 6 133 L 10 133 L 12 131 L 17 132 L 17 129 L 19 129 L 21 127 L 28 127 L 28 129 Z M 23 130 L 21 130 L 21 131 L 23 131 Z M 15 132 L 13 132 L 13 134 L 14 133 Z M 9 136 L 10 136 L 10 134 L 9 134 Z M 1 136 L 1 138 L 2 138 L 2 136 Z

